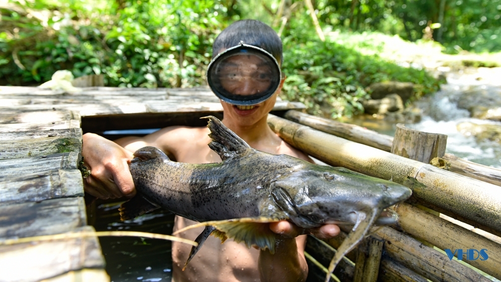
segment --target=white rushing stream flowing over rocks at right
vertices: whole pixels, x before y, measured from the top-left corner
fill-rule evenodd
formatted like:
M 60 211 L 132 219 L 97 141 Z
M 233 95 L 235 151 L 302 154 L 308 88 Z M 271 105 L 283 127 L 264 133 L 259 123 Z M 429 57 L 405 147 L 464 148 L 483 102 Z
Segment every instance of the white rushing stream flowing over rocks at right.
M 467 110 L 457 107 L 460 94 L 464 91 L 498 90 L 501 86 L 499 77 L 501 77 L 501 68 L 482 68 L 469 70 L 467 73 L 449 74 L 447 84 L 442 85 L 439 92 L 414 104 L 423 111 L 421 121 L 415 124 L 405 124 L 405 126 L 423 132 L 446 134 L 447 153 L 475 163 L 501 168 L 501 142 L 499 140 L 477 140 L 474 136 L 464 135 L 457 129 L 457 125 L 463 122 L 501 126 L 501 122 L 470 118 Z M 353 119 L 353 123 L 379 133 L 391 136 L 395 134 L 395 124 L 386 123 L 384 120 L 367 121 L 357 117 Z

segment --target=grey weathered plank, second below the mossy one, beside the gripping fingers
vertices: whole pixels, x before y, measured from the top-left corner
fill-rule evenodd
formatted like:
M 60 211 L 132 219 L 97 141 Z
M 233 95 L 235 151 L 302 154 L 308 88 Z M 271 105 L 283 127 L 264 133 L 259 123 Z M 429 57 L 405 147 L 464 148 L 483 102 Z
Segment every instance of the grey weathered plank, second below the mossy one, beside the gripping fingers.
M 0 177 L 0 203 L 39 202 L 47 199 L 83 196 L 80 170 L 49 170 L 40 173 Z

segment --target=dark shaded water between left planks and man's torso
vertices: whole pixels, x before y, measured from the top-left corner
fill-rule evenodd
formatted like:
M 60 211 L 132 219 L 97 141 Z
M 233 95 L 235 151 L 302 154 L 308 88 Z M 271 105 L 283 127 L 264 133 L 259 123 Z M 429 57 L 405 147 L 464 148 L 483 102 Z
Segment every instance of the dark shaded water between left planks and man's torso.
M 118 208 L 122 202 L 97 200 L 89 221 L 97 231 L 140 231 L 170 235 L 174 214 L 155 210 L 120 221 Z M 171 241 L 141 237 L 99 237 L 111 281 L 169 282 L 172 277 Z

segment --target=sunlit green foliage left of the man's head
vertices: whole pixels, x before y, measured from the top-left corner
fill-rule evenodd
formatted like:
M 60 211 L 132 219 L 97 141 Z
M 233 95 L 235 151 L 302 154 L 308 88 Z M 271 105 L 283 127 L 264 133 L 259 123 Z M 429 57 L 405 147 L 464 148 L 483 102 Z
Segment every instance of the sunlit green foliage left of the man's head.
M 213 35 L 224 27 L 227 10 L 218 3 L 17 3 L 18 12 L 2 10 L 2 26 L 14 33 L 0 33 L 0 83 L 39 84 L 68 69 L 75 77 L 103 73 L 109 86 L 201 85 L 200 67 L 210 60 Z M 37 18 L 31 9 L 48 18 Z

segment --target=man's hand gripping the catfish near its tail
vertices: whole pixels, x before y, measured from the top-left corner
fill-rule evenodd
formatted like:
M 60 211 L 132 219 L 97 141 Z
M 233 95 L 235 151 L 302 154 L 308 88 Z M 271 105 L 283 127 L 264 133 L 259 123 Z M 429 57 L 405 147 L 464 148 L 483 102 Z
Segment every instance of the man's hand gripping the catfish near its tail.
M 82 156 L 91 175 L 84 179 L 85 192 L 101 199 L 136 194 L 128 161 L 132 153 L 93 133 L 83 135 Z

